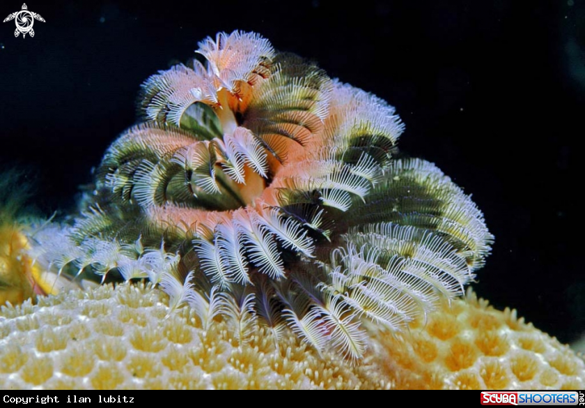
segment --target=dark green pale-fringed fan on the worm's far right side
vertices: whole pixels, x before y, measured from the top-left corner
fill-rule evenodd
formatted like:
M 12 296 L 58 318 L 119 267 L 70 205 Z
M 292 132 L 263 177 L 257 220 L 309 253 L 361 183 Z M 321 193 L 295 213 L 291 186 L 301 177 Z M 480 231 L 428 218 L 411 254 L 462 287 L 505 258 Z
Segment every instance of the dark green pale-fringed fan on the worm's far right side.
M 365 203 L 355 209 L 351 218 L 342 221 L 343 227 L 385 234 L 370 223 L 391 221 L 430 229 L 444 236 L 472 270 L 483 266 L 494 239 L 471 198 L 424 160 L 395 160 Z

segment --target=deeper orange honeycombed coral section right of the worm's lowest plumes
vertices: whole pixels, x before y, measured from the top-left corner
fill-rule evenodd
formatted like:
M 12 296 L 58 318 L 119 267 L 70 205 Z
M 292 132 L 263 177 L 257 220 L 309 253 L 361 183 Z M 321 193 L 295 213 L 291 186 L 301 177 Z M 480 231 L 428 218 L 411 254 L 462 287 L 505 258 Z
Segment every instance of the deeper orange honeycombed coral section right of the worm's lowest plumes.
M 468 292 L 407 333 L 377 336 L 396 388 L 582 389 L 585 364 L 567 345 Z

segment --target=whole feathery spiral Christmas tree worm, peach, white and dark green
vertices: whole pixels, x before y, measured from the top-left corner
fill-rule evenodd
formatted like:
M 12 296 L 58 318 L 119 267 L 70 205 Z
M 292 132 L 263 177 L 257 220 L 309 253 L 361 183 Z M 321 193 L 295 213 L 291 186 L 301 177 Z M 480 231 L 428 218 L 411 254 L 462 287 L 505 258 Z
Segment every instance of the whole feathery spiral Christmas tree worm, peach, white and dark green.
M 401 331 L 464 293 L 493 237 L 435 165 L 395 157 L 391 105 L 256 33 L 197 52 L 143 84 L 142 123 L 42 264 L 148 278 L 204 329 L 220 315 L 242 339 L 288 326 L 352 360 L 364 322 Z

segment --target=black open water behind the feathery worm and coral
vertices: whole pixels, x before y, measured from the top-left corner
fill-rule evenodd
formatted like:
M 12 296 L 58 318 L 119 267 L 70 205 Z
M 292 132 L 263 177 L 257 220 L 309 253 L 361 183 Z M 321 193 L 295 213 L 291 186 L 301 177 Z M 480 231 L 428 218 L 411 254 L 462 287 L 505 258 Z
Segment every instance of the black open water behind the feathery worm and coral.
M 66 213 L 143 80 L 205 36 L 257 31 L 396 105 L 400 149 L 472 193 L 496 236 L 476 292 L 570 342 L 585 329 L 580 1 L 27 2 L 47 20 L 34 38 L 0 24 L 0 166 L 28 168 L 41 211 Z

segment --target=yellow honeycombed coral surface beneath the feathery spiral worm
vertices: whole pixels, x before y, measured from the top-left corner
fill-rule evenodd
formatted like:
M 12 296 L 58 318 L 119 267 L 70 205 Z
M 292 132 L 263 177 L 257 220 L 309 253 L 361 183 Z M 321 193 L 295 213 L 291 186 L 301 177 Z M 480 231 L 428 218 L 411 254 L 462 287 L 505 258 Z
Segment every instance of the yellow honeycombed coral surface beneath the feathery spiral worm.
M 373 328 L 357 365 L 284 331 L 239 344 L 207 333 L 152 286 L 107 285 L 0 311 L 0 388 L 583 388 L 568 347 L 473 295 L 415 322 Z

